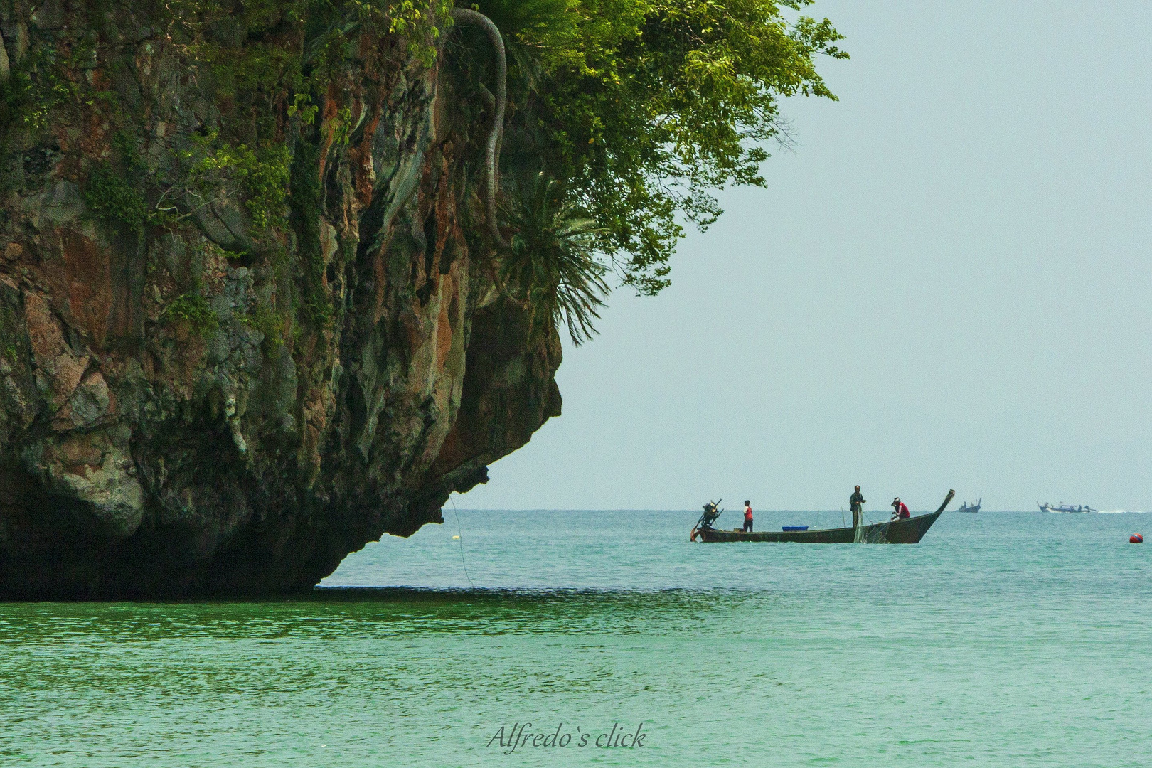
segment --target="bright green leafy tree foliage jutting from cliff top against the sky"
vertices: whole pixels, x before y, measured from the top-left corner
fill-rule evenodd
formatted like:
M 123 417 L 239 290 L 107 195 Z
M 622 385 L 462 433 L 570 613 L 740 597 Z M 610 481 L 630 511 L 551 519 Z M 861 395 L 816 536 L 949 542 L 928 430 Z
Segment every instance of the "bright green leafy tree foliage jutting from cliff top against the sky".
M 765 145 L 787 138 L 781 98 L 835 99 L 814 59 L 847 58 L 842 37 L 828 20 L 785 17 L 811 1 L 477 3 L 538 62 L 511 98 L 540 113 L 548 173 L 597 221 L 626 284 L 668 284 L 680 221 L 721 213 L 712 190 L 764 184 Z

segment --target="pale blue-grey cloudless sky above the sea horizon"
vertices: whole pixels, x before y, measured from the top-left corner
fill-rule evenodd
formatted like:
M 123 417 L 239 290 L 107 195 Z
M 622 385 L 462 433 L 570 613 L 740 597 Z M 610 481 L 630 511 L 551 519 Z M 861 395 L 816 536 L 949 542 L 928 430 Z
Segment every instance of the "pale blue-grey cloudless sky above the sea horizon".
M 821 0 L 789 99 L 460 509 L 1152 510 L 1152 3 Z

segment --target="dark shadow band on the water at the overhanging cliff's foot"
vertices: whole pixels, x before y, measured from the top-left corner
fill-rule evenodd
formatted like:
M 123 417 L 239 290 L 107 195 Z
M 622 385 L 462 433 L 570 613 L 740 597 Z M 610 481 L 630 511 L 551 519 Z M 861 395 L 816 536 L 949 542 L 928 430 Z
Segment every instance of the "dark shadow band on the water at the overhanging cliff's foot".
M 318 587 L 268 599 L 0 603 L 0 647 L 85 641 L 348 639 L 420 634 L 676 636 L 771 608 L 730 590 L 425 590 Z M 749 603 L 757 603 L 749 606 Z

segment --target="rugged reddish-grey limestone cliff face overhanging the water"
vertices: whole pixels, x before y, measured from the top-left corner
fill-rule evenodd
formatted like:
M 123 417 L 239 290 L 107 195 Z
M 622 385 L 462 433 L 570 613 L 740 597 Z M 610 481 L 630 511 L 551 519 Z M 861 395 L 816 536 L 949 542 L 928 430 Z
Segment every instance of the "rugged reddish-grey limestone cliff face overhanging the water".
M 476 73 L 346 23 L 326 79 L 229 79 L 316 20 L 209 5 L 0 0 L 3 595 L 309 587 L 560 412 Z

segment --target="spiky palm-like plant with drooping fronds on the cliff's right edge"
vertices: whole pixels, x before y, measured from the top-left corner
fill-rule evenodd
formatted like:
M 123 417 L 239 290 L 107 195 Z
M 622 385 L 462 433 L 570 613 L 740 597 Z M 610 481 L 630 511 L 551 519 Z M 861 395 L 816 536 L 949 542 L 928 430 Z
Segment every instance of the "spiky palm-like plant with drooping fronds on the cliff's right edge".
M 525 189 L 526 187 L 526 189 Z M 533 317 L 568 326 L 577 347 L 597 333 L 593 321 L 608 295 L 607 266 L 593 256 L 596 222 L 567 203 L 555 178 L 538 173 L 508 210 L 516 230 L 500 259 L 500 282 Z

